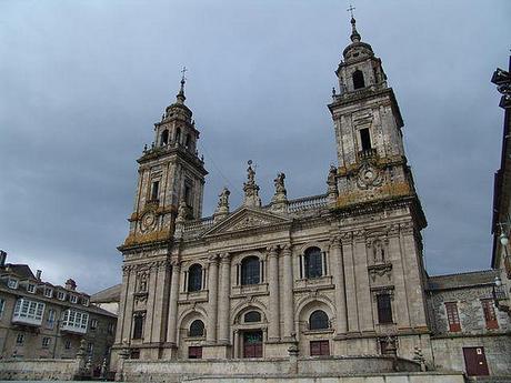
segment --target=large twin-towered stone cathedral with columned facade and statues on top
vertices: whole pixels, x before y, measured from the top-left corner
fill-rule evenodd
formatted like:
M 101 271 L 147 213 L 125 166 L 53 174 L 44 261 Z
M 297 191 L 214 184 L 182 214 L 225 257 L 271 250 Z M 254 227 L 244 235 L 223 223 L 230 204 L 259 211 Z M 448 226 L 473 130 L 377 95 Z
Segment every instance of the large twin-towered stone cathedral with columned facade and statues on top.
M 450 345 L 435 331 L 457 332 L 451 322 L 464 320 L 454 311 L 461 306 L 452 305 L 461 286 L 449 279 L 430 283 L 421 238 L 427 221 L 398 101 L 353 18 L 350 39 L 328 105 L 338 163 L 318 170 L 324 171 L 321 195 L 288 199 L 279 173 L 273 198 L 263 203 L 249 161 L 242 204 L 230 206 L 223 189 L 213 215 L 202 216 L 208 171 L 181 80 L 176 102 L 154 124 L 154 142 L 138 159 L 129 235 L 119 246 L 123 274 L 112 365 L 124 379 L 157 365 L 179 374 L 190 363 L 218 374 L 214 361 L 237 373 L 267 372 L 281 360 L 298 360 L 294 372 L 314 372 L 300 364 L 308 361 L 335 372 L 324 364 L 330 360 L 338 369 L 350 361 L 353 371 L 425 371 L 439 366 L 435 347 L 445 363 Z M 485 294 L 493 278 L 491 271 L 478 274 L 474 286 Z M 483 309 L 484 315 L 494 310 L 490 303 Z M 493 316 L 509 331 L 504 316 Z

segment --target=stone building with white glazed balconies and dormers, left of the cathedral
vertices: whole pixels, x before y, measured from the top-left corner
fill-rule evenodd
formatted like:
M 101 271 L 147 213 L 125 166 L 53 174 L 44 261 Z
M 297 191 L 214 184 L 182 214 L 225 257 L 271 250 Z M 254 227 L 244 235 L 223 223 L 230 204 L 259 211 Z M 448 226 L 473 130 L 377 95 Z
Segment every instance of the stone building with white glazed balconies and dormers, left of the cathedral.
M 113 344 L 117 316 L 90 303 L 73 280 L 64 286 L 6 263 L 0 252 L 0 355 L 2 359 L 74 359 L 81 340 L 94 366 Z

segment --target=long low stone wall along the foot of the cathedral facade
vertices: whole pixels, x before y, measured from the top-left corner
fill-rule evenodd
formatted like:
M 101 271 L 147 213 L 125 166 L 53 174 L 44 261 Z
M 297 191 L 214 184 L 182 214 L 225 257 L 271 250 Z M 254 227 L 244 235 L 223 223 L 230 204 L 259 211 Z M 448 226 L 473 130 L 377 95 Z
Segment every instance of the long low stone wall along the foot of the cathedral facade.
M 156 382 L 181 382 L 200 376 L 222 376 L 218 382 L 230 377 L 310 375 L 335 376 L 357 371 L 358 373 L 388 373 L 394 371 L 419 371 L 411 361 L 385 356 L 338 356 L 264 360 L 189 360 L 189 361 L 141 361 L 126 360 L 122 374 L 118 377 L 128 382 L 146 382 L 150 375 Z

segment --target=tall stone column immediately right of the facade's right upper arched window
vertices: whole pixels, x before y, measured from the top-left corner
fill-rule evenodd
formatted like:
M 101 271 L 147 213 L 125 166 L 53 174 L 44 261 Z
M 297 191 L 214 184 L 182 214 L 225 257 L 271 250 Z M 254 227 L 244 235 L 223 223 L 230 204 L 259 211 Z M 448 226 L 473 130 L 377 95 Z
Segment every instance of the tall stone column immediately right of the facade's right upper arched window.
M 330 241 L 330 255 L 332 258 L 332 276 L 335 284 L 335 330 L 338 334 L 343 334 L 348 330 L 345 312 L 345 289 L 344 289 L 344 265 L 340 238 L 334 236 Z

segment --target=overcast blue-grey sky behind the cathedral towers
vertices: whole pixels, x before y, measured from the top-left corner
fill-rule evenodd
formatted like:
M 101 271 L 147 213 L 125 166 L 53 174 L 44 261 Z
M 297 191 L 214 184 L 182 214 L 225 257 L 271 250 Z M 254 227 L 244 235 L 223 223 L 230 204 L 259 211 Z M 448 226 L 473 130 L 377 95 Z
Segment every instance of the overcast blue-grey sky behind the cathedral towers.
M 136 159 L 173 102 L 182 65 L 201 131 L 204 214 L 247 160 L 263 202 L 325 191 L 327 103 L 349 42 L 348 0 L 0 0 L 0 249 L 8 262 L 93 293 L 120 281 Z M 429 221 L 430 274 L 490 266 L 493 173 L 511 1 L 354 0 L 383 61 Z

